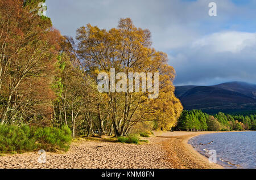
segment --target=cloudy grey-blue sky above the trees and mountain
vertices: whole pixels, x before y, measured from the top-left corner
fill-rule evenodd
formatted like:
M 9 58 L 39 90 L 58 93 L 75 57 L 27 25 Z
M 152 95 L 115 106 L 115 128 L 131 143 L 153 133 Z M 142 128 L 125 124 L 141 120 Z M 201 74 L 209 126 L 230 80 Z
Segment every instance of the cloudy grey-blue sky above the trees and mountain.
M 217 16 L 209 16 L 210 2 Z M 175 85 L 230 81 L 256 84 L 256 0 L 46 0 L 47 16 L 62 35 L 88 23 L 117 27 L 131 18 L 150 29 L 155 49 L 176 70 Z

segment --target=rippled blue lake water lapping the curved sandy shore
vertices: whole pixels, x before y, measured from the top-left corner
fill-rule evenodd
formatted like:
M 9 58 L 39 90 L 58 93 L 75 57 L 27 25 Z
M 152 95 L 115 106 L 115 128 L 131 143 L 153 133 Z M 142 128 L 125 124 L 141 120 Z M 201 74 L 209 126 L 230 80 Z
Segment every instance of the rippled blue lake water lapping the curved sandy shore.
M 211 144 L 207 144 L 212 142 Z M 188 141 L 202 155 L 217 152 L 217 163 L 225 168 L 256 168 L 256 132 L 223 132 L 199 135 Z M 199 145 L 207 144 L 207 145 Z

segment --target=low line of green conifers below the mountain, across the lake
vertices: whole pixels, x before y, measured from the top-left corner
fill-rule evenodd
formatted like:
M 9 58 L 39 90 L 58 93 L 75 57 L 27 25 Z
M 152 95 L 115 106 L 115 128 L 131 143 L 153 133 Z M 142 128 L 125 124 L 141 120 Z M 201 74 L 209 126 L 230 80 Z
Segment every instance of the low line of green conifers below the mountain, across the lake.
M 209 115 L 201 110 L 184 110 L 175 130 L 187 131 L 245 131 L 256 130 L 256 114 Z

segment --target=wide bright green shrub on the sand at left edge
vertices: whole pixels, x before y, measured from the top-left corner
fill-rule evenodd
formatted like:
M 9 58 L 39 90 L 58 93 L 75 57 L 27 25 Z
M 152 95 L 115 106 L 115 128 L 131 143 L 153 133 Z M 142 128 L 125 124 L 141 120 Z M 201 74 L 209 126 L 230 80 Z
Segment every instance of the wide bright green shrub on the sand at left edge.
M 0 125 L 1 153 L 22 153 L 39 149 L 67 151 L 71 139 L 71 130 L 67 126 L 36 129 L 29 126 Z

